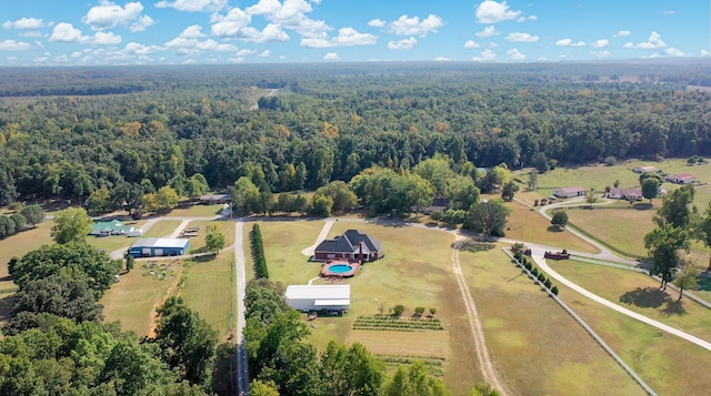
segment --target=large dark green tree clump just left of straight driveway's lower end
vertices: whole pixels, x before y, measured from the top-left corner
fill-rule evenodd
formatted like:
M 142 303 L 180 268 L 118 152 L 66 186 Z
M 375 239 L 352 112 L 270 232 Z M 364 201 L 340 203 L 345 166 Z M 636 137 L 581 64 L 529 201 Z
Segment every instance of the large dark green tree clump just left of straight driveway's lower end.
M 156 343 L 163 362 L 178 370 L 182 379 L 208 385 L 218 335 L 181 298 L 170 297 L 157 309 L 160 319 L 156 328 Z

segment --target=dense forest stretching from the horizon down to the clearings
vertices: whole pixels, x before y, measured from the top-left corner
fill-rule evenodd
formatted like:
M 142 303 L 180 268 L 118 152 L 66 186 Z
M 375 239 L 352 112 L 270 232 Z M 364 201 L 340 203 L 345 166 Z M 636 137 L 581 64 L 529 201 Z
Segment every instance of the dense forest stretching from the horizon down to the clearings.
M 99 189 L 271 192 L 410 170 L 711 155 L 705 63 L 3 69 L 0 204 Z M 180 189 L 177 189 L 180 190 Z M 179 191 L 180 192 L 180 191 Z

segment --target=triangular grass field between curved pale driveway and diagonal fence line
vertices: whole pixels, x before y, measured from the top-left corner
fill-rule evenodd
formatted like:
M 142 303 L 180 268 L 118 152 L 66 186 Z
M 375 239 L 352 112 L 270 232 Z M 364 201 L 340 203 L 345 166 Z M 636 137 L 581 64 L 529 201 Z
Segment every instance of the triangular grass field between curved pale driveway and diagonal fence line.
M 565 262 L 552 264 L 560 271 Z M 559 296 L 657 394 L 701 396 L 709 393 L 711 376 L 708 375 L 708 366 L 711 359 L 708 351 L 594 303 L 564 285 L 558 287 Z

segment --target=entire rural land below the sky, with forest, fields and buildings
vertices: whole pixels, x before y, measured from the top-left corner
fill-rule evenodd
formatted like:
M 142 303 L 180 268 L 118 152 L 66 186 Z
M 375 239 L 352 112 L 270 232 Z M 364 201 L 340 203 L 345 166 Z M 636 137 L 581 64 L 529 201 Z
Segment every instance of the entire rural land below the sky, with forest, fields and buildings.
M 711 387 L 708 62 L 0 75 L 2 395 Z

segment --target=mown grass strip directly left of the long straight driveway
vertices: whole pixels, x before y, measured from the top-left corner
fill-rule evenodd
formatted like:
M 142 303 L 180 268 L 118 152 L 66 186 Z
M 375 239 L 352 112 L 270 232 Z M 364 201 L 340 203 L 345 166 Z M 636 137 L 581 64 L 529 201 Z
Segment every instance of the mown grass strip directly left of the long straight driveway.
M 232 224 L 232 229 L 234 229 Z M 193 260 L 186 265 L 178 292 L 224 339 L 234 328 L 234 255 L 222 252 L 216 257 Z

